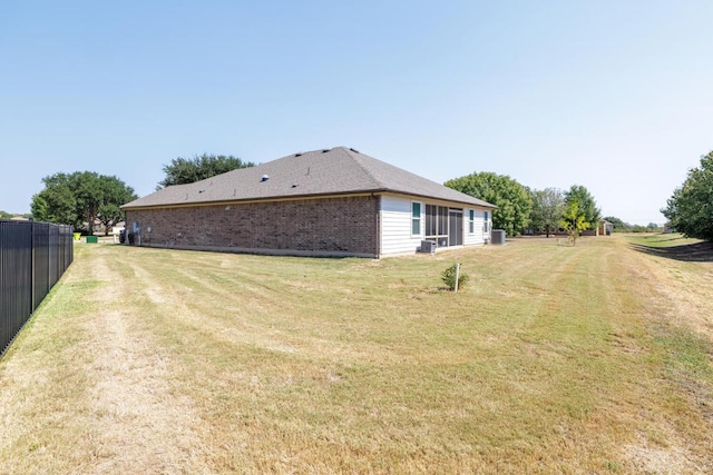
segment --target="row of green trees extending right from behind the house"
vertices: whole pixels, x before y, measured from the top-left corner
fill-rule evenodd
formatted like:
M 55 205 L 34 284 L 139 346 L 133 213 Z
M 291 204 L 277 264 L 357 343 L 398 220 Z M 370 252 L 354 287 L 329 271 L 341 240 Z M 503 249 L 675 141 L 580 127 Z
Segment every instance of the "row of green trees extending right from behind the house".
M 445 185 L 497 206 L 492 211 L 492 227 L 504 229 L 508 236 L 526 230 L 549 236 L 564 229 L 576 239 L 582 231 L 598 226 L 602 218 L 596 200 L 582 185 L 573 185 L 565 191 L 538 190 L 490 171 L 453 178 Z

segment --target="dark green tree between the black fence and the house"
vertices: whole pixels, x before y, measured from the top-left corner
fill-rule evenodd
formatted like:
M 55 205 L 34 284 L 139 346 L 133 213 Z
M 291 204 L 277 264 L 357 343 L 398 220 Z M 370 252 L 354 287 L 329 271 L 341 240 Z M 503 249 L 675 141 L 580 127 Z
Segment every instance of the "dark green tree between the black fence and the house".
M 32 217 L 88 232 L 97 219 L 107 228 L 120 221 L 124 212 L 119 207 L 137 198 L 134 189 L 117 177 L 94 171 L 59 172 L 42 182 L 45 189 L 32 197 Z

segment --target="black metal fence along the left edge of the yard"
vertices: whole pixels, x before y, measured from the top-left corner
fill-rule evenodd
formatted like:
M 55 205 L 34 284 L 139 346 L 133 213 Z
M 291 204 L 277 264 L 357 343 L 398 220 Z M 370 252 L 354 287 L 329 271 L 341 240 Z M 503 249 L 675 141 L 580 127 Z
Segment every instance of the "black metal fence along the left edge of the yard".
M 0 355 L 72 263 L 72 230 L 0 220 Z

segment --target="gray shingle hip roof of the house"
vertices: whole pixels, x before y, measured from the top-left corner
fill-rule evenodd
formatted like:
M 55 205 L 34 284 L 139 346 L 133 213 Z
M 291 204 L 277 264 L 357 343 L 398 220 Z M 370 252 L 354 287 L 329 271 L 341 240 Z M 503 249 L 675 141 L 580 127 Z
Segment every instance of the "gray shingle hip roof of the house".
M 268 179 L 263 180 L 263 176 Z M 194 184 L 166 187 L 126 204 L 124 208 L 360 192 L 395 192 L 495 208 L 489 202 L 345 147 L 293 154 Z

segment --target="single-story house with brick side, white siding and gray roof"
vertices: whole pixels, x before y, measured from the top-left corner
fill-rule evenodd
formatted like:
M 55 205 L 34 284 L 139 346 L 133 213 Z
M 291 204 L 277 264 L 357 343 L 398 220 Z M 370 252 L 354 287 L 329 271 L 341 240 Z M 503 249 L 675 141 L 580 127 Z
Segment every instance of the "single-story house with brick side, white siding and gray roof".
M 166 187 L 123 209 L 138 246 L 381 258 L 423 240 L 488 243 L 495 206 L 336 147 Z

